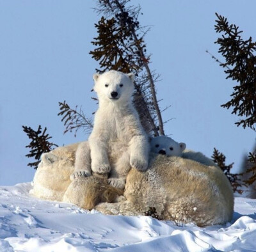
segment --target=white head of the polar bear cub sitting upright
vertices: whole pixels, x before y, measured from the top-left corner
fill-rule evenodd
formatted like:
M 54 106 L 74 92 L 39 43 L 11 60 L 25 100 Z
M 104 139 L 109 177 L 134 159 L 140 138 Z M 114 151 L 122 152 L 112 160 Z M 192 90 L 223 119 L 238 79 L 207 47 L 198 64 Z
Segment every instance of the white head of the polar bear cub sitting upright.
M 124 74 L 115 70 L 104 74 L 93 74 L 94 88 L 99 102 L 131 101 L 134 89 L 134 74 Z

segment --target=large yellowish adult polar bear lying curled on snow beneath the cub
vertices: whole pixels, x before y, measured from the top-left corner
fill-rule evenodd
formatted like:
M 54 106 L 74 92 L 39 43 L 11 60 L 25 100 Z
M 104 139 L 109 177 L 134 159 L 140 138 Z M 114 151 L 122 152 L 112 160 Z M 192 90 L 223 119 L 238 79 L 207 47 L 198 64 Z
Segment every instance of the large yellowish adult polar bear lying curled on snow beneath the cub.
M 122 190 L 109 185 L 104 176 L 70 180 L 77 146 L 63 146 L 43 154 L 31 194 L 95 208 L 104 214 L 143 215 L 149 207 L 156 207 L 162 219 L 198 226 L 224 224 L 232 219 L 234 196 L 230 182 L 200 152 L 185 150 L 184 157 L 150 154 L 147 171 L 129 171 L 124 198 L 120 196 Z

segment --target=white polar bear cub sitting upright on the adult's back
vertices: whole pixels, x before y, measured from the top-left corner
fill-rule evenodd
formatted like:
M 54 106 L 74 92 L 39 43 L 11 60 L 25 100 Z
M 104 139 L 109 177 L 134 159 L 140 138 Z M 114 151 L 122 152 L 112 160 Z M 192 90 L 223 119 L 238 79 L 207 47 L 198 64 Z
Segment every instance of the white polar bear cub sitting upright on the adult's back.
M 148 136 L 131 101 L 134 74 L 111 70 L 94 74 L 93 79 L 99 109 L 88 145 L 77 150 L 73 177 L 86 177 L 92 172 L 109 174 L 109 184 L 123 189 L 131 167 L 147 170 L 150 150 Z

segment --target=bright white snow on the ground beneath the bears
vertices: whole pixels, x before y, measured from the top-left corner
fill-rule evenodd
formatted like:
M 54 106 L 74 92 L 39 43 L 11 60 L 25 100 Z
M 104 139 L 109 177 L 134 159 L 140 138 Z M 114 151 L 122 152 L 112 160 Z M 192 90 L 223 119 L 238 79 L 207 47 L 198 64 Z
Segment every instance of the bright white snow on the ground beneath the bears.
M 0 251 L 256 251 L 256 200 L 235 199 L 232 223 L 200 228 L 107 216 L 38 200 L 31 184 L 0 187 Z

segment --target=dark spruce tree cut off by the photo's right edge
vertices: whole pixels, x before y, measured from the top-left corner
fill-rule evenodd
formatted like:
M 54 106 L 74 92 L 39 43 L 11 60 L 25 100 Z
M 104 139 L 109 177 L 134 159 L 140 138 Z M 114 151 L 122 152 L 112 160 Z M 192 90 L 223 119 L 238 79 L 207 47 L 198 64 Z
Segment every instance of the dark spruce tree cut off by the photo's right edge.
M 219 52 L 225 59 L 225 63 L 220 63 L 220 66 L 225 68 L 227 79 L 231 78 L 237 83 L 231 100 L 221 107 L 232 107 L 232 114 L 241 118 L 235 123 L 237 126 L 256 131 L 256 42 L 252 41 L 252 37 L 243 40 L 243 31 L 239 31 L 238 26 L 228 24 L 227 19 L 218 13 L 216 16 L 215 30 L 222 35 L 215 43 L 220 45 Z M 248 161 L 250 168 L 247 172 L 252 176 L 244 182 L 256 185 L 256 150 L 249 154 Z

